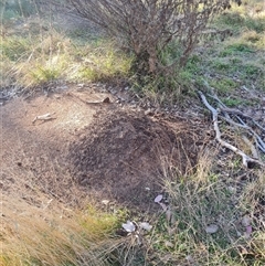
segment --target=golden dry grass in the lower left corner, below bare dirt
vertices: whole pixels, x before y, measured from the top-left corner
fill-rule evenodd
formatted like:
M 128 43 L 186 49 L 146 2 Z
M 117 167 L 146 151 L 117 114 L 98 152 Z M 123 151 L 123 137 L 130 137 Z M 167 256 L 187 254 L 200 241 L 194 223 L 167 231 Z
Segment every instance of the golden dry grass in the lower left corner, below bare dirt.
M 51 211 L 17 201 L 17 210 L 24 210 L 19 213 L 4 204 L 0 265 L 106 265 L 117 215 L 93 206 L 71 211 L 59 204 Z

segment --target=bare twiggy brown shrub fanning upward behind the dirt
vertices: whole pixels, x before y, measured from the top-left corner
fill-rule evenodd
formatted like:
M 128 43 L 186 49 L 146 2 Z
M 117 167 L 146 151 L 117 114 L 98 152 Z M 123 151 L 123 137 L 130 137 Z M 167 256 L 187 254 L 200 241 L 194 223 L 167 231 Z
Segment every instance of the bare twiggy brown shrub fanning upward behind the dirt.
M 140 75 L 170 73 L 186 65 L 209 20 L 230 0 L 65 0 L 78 15 L 100 25 L 135 55 Z M 235 0 L 239 4 L 241 1 Z M 172 62 L 161 54 L 178 44 Z

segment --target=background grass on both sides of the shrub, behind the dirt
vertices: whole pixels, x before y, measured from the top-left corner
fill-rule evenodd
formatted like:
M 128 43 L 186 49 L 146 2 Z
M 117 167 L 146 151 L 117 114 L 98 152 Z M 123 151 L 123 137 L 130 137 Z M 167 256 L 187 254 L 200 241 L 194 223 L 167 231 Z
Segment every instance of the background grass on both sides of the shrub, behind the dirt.
M 26 0 L 22 2 L 28 3 Z M 20 8 L 23 9 L 22 6 Z M 186 96 L 193 97 L 194 84 L 201 84 L 201 76 L 211 73 L 211 76 L 222 76 L 221 82 L 220 77 L 206 79 L 213 87 L 216 85 L 224 96 L 224 92 L 239 87 L 234 77 L 247 87 L 265 91 L 265 62 L 262 60 L 265 54 L 264 17 L 251 15 L 251 8 L 254 8 L 252 1 L 241 8 L 234 6 L 232 11 L 214 21 L 214 25 L 221 29 L 231 28 L 234 32 L 232 38 L 213 43 L 203 54 L 194 53 L 183 70 L 140 81 L 131 73 L 134 57 L 120 51 L 114 41 L 104 40 L 85 29 L 62 32 L 46 26 L 44 21 L 42 24 L 47 30 L 43 30 L 40 20 L 28 19 L 26 29 L 13 30 L 1 40 L 1 86 L 34 87 L 61 79 L 113 82 L 129 78 L 131 86 L 142 96 L 157 104 L 171 104 L 181 102 Z M 7 11 L 21 15 L 18 4 L 7 6 L 4 13 Z M 255 21 L 253 24 L 257 24 L 258 29 L 246 26 L 250 21 Z M 173 63 L 179 56 L 178 44 L 172 43 L 159 56 L 165 65 Z

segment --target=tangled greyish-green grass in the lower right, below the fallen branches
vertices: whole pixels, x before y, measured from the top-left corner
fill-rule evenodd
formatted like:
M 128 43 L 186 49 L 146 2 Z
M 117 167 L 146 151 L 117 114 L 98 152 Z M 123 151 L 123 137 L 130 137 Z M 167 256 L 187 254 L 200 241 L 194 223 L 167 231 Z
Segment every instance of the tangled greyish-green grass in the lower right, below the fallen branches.
M 214 174 L 210 150 L 200 157 L 193 175 L 168 172 L 169 212 L 160 216 L 149 243 L 160 265 L 264 265 L 265 174 L 240 183 L 236 175 Z M 246 173 L 247 174 L 247 173 Z M 250 177 L 252 174 L 250 173 Z M 246 236 L 242 219 L 247 214 L 253 233 Z M 171 215 L 171 216 L 170 216 Z M 218 232 L 206 233 L 209 225 Z

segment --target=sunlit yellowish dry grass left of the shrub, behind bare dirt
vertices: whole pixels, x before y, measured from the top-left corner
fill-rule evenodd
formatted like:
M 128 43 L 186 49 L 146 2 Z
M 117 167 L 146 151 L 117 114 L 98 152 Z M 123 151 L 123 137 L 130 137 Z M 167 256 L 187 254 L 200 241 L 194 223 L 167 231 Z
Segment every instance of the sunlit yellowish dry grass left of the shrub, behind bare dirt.
M 132 58 L 115 42 L 74 43 L 55 28 L 31 32 L 36 23 L 28 20 L 29 28 L 10 31 L 1 39 L 1 86 L 34 87 L 60 79 L 114 81 L 128 75 Z

